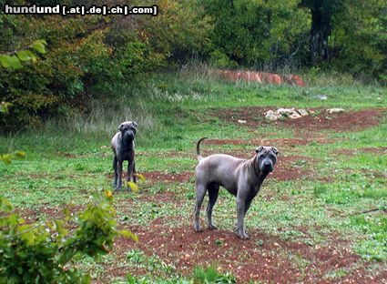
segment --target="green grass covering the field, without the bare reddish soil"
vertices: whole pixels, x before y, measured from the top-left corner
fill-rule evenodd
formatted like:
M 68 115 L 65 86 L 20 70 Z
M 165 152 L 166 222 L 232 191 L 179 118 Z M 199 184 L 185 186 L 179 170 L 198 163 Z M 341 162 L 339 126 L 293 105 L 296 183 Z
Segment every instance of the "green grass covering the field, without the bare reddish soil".
M 190 76 L 190 77 L 189 77 Z M 187 183 L 162 181 L 140 184 L 136 195 L 117 196 L 117 218 L 122 225 L 147 226 L 155 219 L 170 228 L 190 226 L 194 206 L 193 170 L 197 165 L 195 143 L 199 137 L 219 139 L 298 138 L 290 128 L 249 128 L 211 116 L 211 111 L 238 106 L 298 106 L 362 109 L 386 107 L 386 89 L 377 86 L 265 86 L 227 83 L 209 76 L 169 74 L 152 78 L 147 86 L 120 90 L 130 97 L 117 102 L 94 102 L 89 117 L 74 115 L 61 121 L 49 121 L 46 127 L 25 129 L 17 135 L 0 137 L 0 153 L 24 150 L 25 160 L 0 164 L 0 195 L 23 210 L 63 206 L 69 202 L 84 204 L 94 192 L 111 188 L 112 153 L 109 141 L 119 122 L 134 119 L 139 123 L 137 171 L 166 173 L 192 172 Z M 315 96 L 324 94 L 327 100 Z M 362 214 L 372 208 L 387 207 L 387 156 L 362 151 L 364 147 L 387 146 L 387 119 L 372 128 L 356 132 L 324 131 L 319 134 L 335 139 L 328 144 L 280 148 L 280 155 L 312 158 L 310 164 L 300 158 L 291 167 L 311 168 L 316 177 L 300 180 L 265 181 L 247 215 L 248 229 L 259 230 L 285 242 L 300 241 L 308 246 L 327 246 L 339 238 L 347 241 L 351 252 L 364 261 L 387 261 L 386 218 L 382 210 Z M 312 134 L 311 134 L 312 135 Z M 239 149 L 251 153 L 249 145 L 203 145 L 213 152 Z M 342 149 L 357 149 L 354 155 Z M 173 155 L 171 152 L 178 152 Z M 279 157 L 281 158 L 281 156 Z M 173 193 L 173 202 L 157 202 L 158 195 Z M 155 197 L 156 199 L 147 199 Z M 137 199 L 141 200 L 136 202 Z M 130 206 L 127 206 L 127 203 Z M 125 204 L 125 206 L 123 206 Z M 230 214 L 230 212 L 232 212 Z M 170 218 L 174 217 L 174 218 Z M 235 223 L 235 199 L 220 191 L 214 210 L 214 222 L 226 230 Z M 257 240 L 258 246 L 264 246 Z M 221 240 L 219 240 L 220 246 Z M 310 259 L 284 251 L 284 257 L 304 271 Z M 142 251 L 127 251 L 121 265 L 143 267 L 161 273 L 158 278 L 180 279 L 178 271 L 164 265 L 157 256 Z M 109 259 L 110 258 L 110 259 Z M 115 261 L 110 256 L 99 262 L 85 259 L 85 269 L 94 276 L 103 274 L 102 264 Z M 375 266 L 378 269 L 378 266 Z M 170 270 L 172 269 L 172 270 Z M 332 268 L 324 279 L 341 279 L 349 272 Z M 127 279 L 116 279 L 119 281 Z M 139 280 L 138 280 L 139 281 Z M 130 281 L 129 281 L 130 282 Z M 137 283 L 137 282 L 133 282 Z M 146 280 L 144 279 L 144 283 Z

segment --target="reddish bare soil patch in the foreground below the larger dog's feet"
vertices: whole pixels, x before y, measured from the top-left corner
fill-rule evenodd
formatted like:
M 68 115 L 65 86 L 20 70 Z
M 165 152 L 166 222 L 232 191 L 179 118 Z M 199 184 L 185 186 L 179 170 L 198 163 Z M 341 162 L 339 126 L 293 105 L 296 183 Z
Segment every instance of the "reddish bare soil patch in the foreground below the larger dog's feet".
M 328 247 L 311 247 L 301 242 L 282 241 L 254 230 L 250 232 L 249 240 L 242 241 L 229 230 L 204 229 L 195 233 L 189 226 L 168 228 L 157 221 L 147 228 L 129 229 L 137 234 L 139 242 L 117 239 L 114 253 L 118 259 L 125 259 L 130 249 L 141 249 L 148 256 L 157 255 L 165 263 L 174 265 L 182 275 L 192 275 L 198 265 L 210 265 L 231 271 L 238 283 L 250 280 L 336 283 L 338 279 L 323 279 L 332 269 L 350 270 L 351 273 L 340 279 L 346 283 L 376 283 L 385 279 L 383 272 L 376 276 L 368 275 L 368 264 L 364 265 L 341 240 L 332 239 L 332 245 Z M 141 275 L 144 270 L 113 265 L 104 275 L 122 277 L 128 272 Z M 104 281 L 104 276 L 98 281 Z

